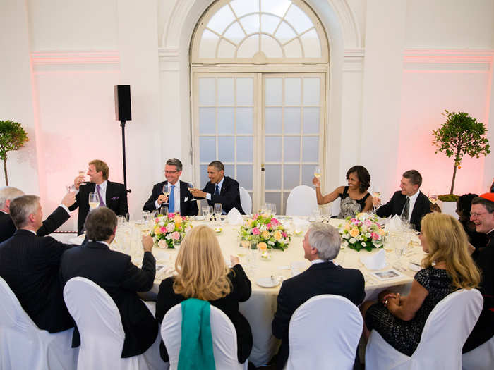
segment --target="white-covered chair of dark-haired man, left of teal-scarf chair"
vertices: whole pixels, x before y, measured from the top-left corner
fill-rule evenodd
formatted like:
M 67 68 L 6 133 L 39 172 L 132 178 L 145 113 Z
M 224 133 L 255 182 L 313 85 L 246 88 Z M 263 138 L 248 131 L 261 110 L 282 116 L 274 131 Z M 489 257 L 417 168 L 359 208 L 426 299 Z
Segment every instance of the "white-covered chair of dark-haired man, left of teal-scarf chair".
M 159 364 L 160 359 L 146 358 L 149 350 L 121 358 L 125 333 L 119 309 L 99 285 L 87 278 L 71 278 L 64 288 L 64 300 L 80 333 L 78 369 L 147 370 Z M 167 369 L 164 362 L 160 365 Z

